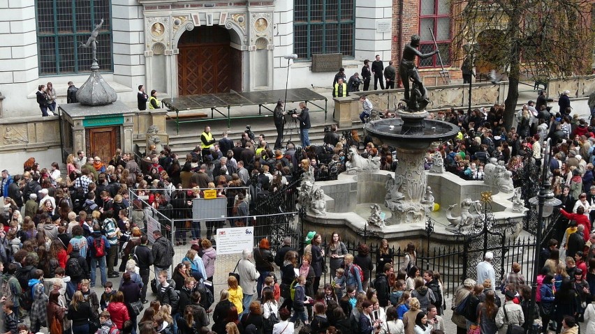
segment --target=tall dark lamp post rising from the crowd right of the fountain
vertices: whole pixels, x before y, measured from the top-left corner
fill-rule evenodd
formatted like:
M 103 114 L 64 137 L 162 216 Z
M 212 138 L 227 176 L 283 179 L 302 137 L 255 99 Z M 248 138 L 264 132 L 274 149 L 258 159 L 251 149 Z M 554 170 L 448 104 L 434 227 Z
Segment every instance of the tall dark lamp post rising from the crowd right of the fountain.
M 537 275 L 539 273 L 540 268 L 539 266 L 539 253 L 541 252 L 541 234 L 543 230 L 543 220 L 544 218 L 549 218 L 554 211 L 554 207 L 559 206 L 561 201 L 554 197 L 554 192 L 552 192 L 551 184 L 550 184 L 550 176 L 549 172 L 550 169 L 550 158 L 551 158 L 551 146 L 550 146 L 550 139 L 545 144 L 545 157 L 543 159 L 543 169 L 541 171 L 541 184 L 539 185 L 539 193 L 536 197 L 532 197 L 529 199 L 529 203 L 532 206 L 538 206 L 537 211 L 537 236 L 536 236 L 536 243 L 535 243 L 535 260 L 533 264 L 533 280 L 531 283 L 531 307 L 529 308 L 529 319 L 528 321 L 533 322 L 535 319 L 535 308 L 536 308 L 536 294 L 537 294 Z M 548 324 L 543 324 L 542 326 L 548 326 Z M 535 326 L 531 324 L 529 328 L 529 333 L 538 333 L 535 329 Z

